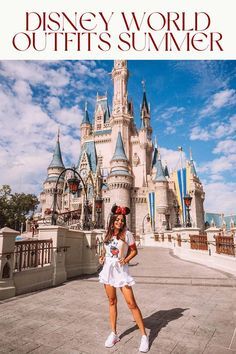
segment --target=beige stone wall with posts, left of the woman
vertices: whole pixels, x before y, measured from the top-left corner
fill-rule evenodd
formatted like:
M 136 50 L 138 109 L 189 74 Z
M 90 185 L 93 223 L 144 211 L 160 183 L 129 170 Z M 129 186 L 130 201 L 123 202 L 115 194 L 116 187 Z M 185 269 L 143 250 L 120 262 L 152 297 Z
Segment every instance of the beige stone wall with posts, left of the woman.
M 40 226 L 38 240 L 52 240 L 52 261 L 43 267 L 14 271 L 14 247 L 18 232 L 0 230 L 0 300 L 62 284 L 82 274 L 96 273 L 97 238 L 101 231 L 77 231 L 60 226 Z

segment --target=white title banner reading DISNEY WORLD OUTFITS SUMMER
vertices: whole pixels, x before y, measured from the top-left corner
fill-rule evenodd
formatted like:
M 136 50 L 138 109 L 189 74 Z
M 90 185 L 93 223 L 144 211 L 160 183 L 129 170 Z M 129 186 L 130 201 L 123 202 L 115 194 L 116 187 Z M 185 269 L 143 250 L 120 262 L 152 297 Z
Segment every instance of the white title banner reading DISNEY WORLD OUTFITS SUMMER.
M 235 59 L 235 1 L 11 0 L 0 59 Z

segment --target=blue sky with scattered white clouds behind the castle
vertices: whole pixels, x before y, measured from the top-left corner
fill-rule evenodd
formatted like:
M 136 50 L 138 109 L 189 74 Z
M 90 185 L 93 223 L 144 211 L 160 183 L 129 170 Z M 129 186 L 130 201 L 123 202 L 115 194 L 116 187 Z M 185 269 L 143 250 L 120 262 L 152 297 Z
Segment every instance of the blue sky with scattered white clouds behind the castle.
M 38 194 L 58 126 L 64 163 L 77 163 L 85 101 L 108 92 L 113 61 L 0 62 L 0 185 Z M 139 127 L 142 80 L 151 105 L 153 137 L 173 169 L 192 149 L 206 192 L 205 209 L 236 212 L 236 61 L 128 62 L 129 97 Z

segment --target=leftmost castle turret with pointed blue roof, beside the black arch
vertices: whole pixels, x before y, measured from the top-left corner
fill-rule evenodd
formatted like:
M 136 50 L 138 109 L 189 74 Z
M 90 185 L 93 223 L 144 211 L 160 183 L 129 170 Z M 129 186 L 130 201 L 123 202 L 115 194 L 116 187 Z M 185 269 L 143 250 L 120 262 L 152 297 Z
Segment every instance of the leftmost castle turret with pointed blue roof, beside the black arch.
M 52 161 L 50 165 L 48 166 L 48 176 L 47 179 L 45 180 L 43 184 L 43 192 L 40 195 L 40 201 L 42 204 L 42 215 L 44 215 L 44 212 L 46 209 L 52 209 L 53 205 L 53 195 L 56 187 L 56 183 L 58 180 L 58 177 L 62 173 L 62 171 L 65 169 L 63 160 L 62 160 L 62 154 L 61 154 L 61 147 L 60 147 L 60 139 L 59 139 L 59 133 L 57 137 L 57 142 L 55 146 L 55 150 L 53 153 Z M 57 196 L 57 207 L 61 207 L 61 200 L 62 200 L 62 192 L 63 192 L 63 186 L 64 186 L 64 176 L 62 175 L 60 177 L 60 180 L 58 181 L 57 185 L 57 191 L 58 191 L 58 196 Z

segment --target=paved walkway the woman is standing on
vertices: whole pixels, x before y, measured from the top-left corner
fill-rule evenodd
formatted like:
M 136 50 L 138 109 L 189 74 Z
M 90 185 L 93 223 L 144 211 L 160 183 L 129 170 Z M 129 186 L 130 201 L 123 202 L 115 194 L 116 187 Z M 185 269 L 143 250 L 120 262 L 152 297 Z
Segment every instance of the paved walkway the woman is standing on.
M 150 353 L 236 353 L 236 278 L 144 248 L 130 271 Z M 0 353 L 133 354 L 140 334 L 118 292 L 121 341 L 104 348 L 108 304 L 96 276 L 0 302 Z

